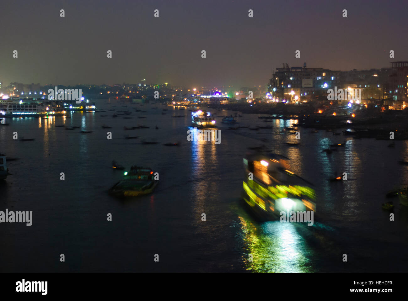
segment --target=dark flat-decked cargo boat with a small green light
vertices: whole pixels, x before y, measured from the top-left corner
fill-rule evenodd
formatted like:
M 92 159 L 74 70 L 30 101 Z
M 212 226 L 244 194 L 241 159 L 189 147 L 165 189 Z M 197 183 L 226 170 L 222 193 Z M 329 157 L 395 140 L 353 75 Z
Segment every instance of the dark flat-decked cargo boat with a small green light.
M 132 166 L 124 173 L 124 179 L 113 185 L 109 193 L 117 197 L 137 197 L 152 193 L 159 183 L 148 167 Z

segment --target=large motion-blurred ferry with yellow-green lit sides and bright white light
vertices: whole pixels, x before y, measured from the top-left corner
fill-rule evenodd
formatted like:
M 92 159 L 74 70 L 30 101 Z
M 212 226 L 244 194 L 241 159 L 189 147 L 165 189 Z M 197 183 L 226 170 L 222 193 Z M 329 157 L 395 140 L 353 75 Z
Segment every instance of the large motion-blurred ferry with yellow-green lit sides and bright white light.
M 262 218 L 279 219 L 282 211 L 316 211 L 313 184 L 290 171 L 288 160 L 262 153 L 244 159 L 243 199 Z

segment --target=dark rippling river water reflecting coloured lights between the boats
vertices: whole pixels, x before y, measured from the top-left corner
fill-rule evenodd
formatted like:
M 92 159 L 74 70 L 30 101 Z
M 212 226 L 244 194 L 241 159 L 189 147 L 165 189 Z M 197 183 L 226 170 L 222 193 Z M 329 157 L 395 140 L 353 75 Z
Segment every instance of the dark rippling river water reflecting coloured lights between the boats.
M 0 126 L 0 150 L 20 158 L 9 162 L 13 175 L 0 183 L 0 210 L 33 211 L 32 226 L 0 224 L 3 272 L 408 271 L 408 210 L 394 200 L 395 221 L 389 221 L 389 212 L 381 209 L 385 193 L 408 181 L 407 167 L 398 164 L 408 159 L 406 141 L 397 141 L 393 149 L 387 141 L 300 128 L 304 145 L 293 147 L 285 142 L 295 142 L 295 135 L 282 128 L 294 120 L 263 122 L 257 115 L 243 114 L 237 117 L 240 125 L 273 129 L 229 131 L 217 118 L 221 144 L 188 142 L 188 110 L 169 107 L 162 115 L 164 106 L 145 104 L 140 108 L 148 113 L 140 113 L 134 104 L 103 102 L 98 108 L 129 110 L 133 119 L 112 118 L 108 111 L 73 113 L 66 120 L 14 118 L 7 120 L 10 126 Z M 123 129 L 142 123 L 151 128 Z M 82 126 L 93 133 L 55 124 Z M 102 124 L 113 128 L 102 129 Z M 13 140 L 14 131 L 19 138 L 36 140 Z M 106 139 L 108 131 L 111 140 Z M 126 134 L 141 137 L 127 140 Z M 142 139 L 160 144 L 143 145 Z M 331 155 L 320 151 L 345 140 L 344 148 Z M 177 141 L 182 145 L 162 145 Z M 289 157 L 291 169 L 316 185 L 314 226 L 260 222 L 243 206 L 242 158 L 247 146 L 262 144 Z M 155 192 L 127 201 L 109 196 L 107 190 L 123 174 L 112 170 L 113 159 L 126 167 L 139 164 L 157 171 L 160 184 Z M 347 172 L 348 180 L 329 182 L 335 172 Z M 107 221 L 108 213 L 112 221 Z M 65 262 L 60 262 L 60 254 Z M 342 261 L 343 254 L 348 262 Z

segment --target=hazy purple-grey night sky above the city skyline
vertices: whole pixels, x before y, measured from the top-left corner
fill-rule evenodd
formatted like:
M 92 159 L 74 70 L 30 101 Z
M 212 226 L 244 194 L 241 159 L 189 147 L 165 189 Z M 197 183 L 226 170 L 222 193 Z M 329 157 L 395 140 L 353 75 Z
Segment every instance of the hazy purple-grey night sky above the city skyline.
M 266 84 L 271 69 L 283 62 L 350 70 L 408 60 L 407 0 L 13 0 L 0 5 L 3 85 L 137 83 L 145 77 L 148 83 L 241 87 Z M 112 58 L 106 57 L 108 50 Z

